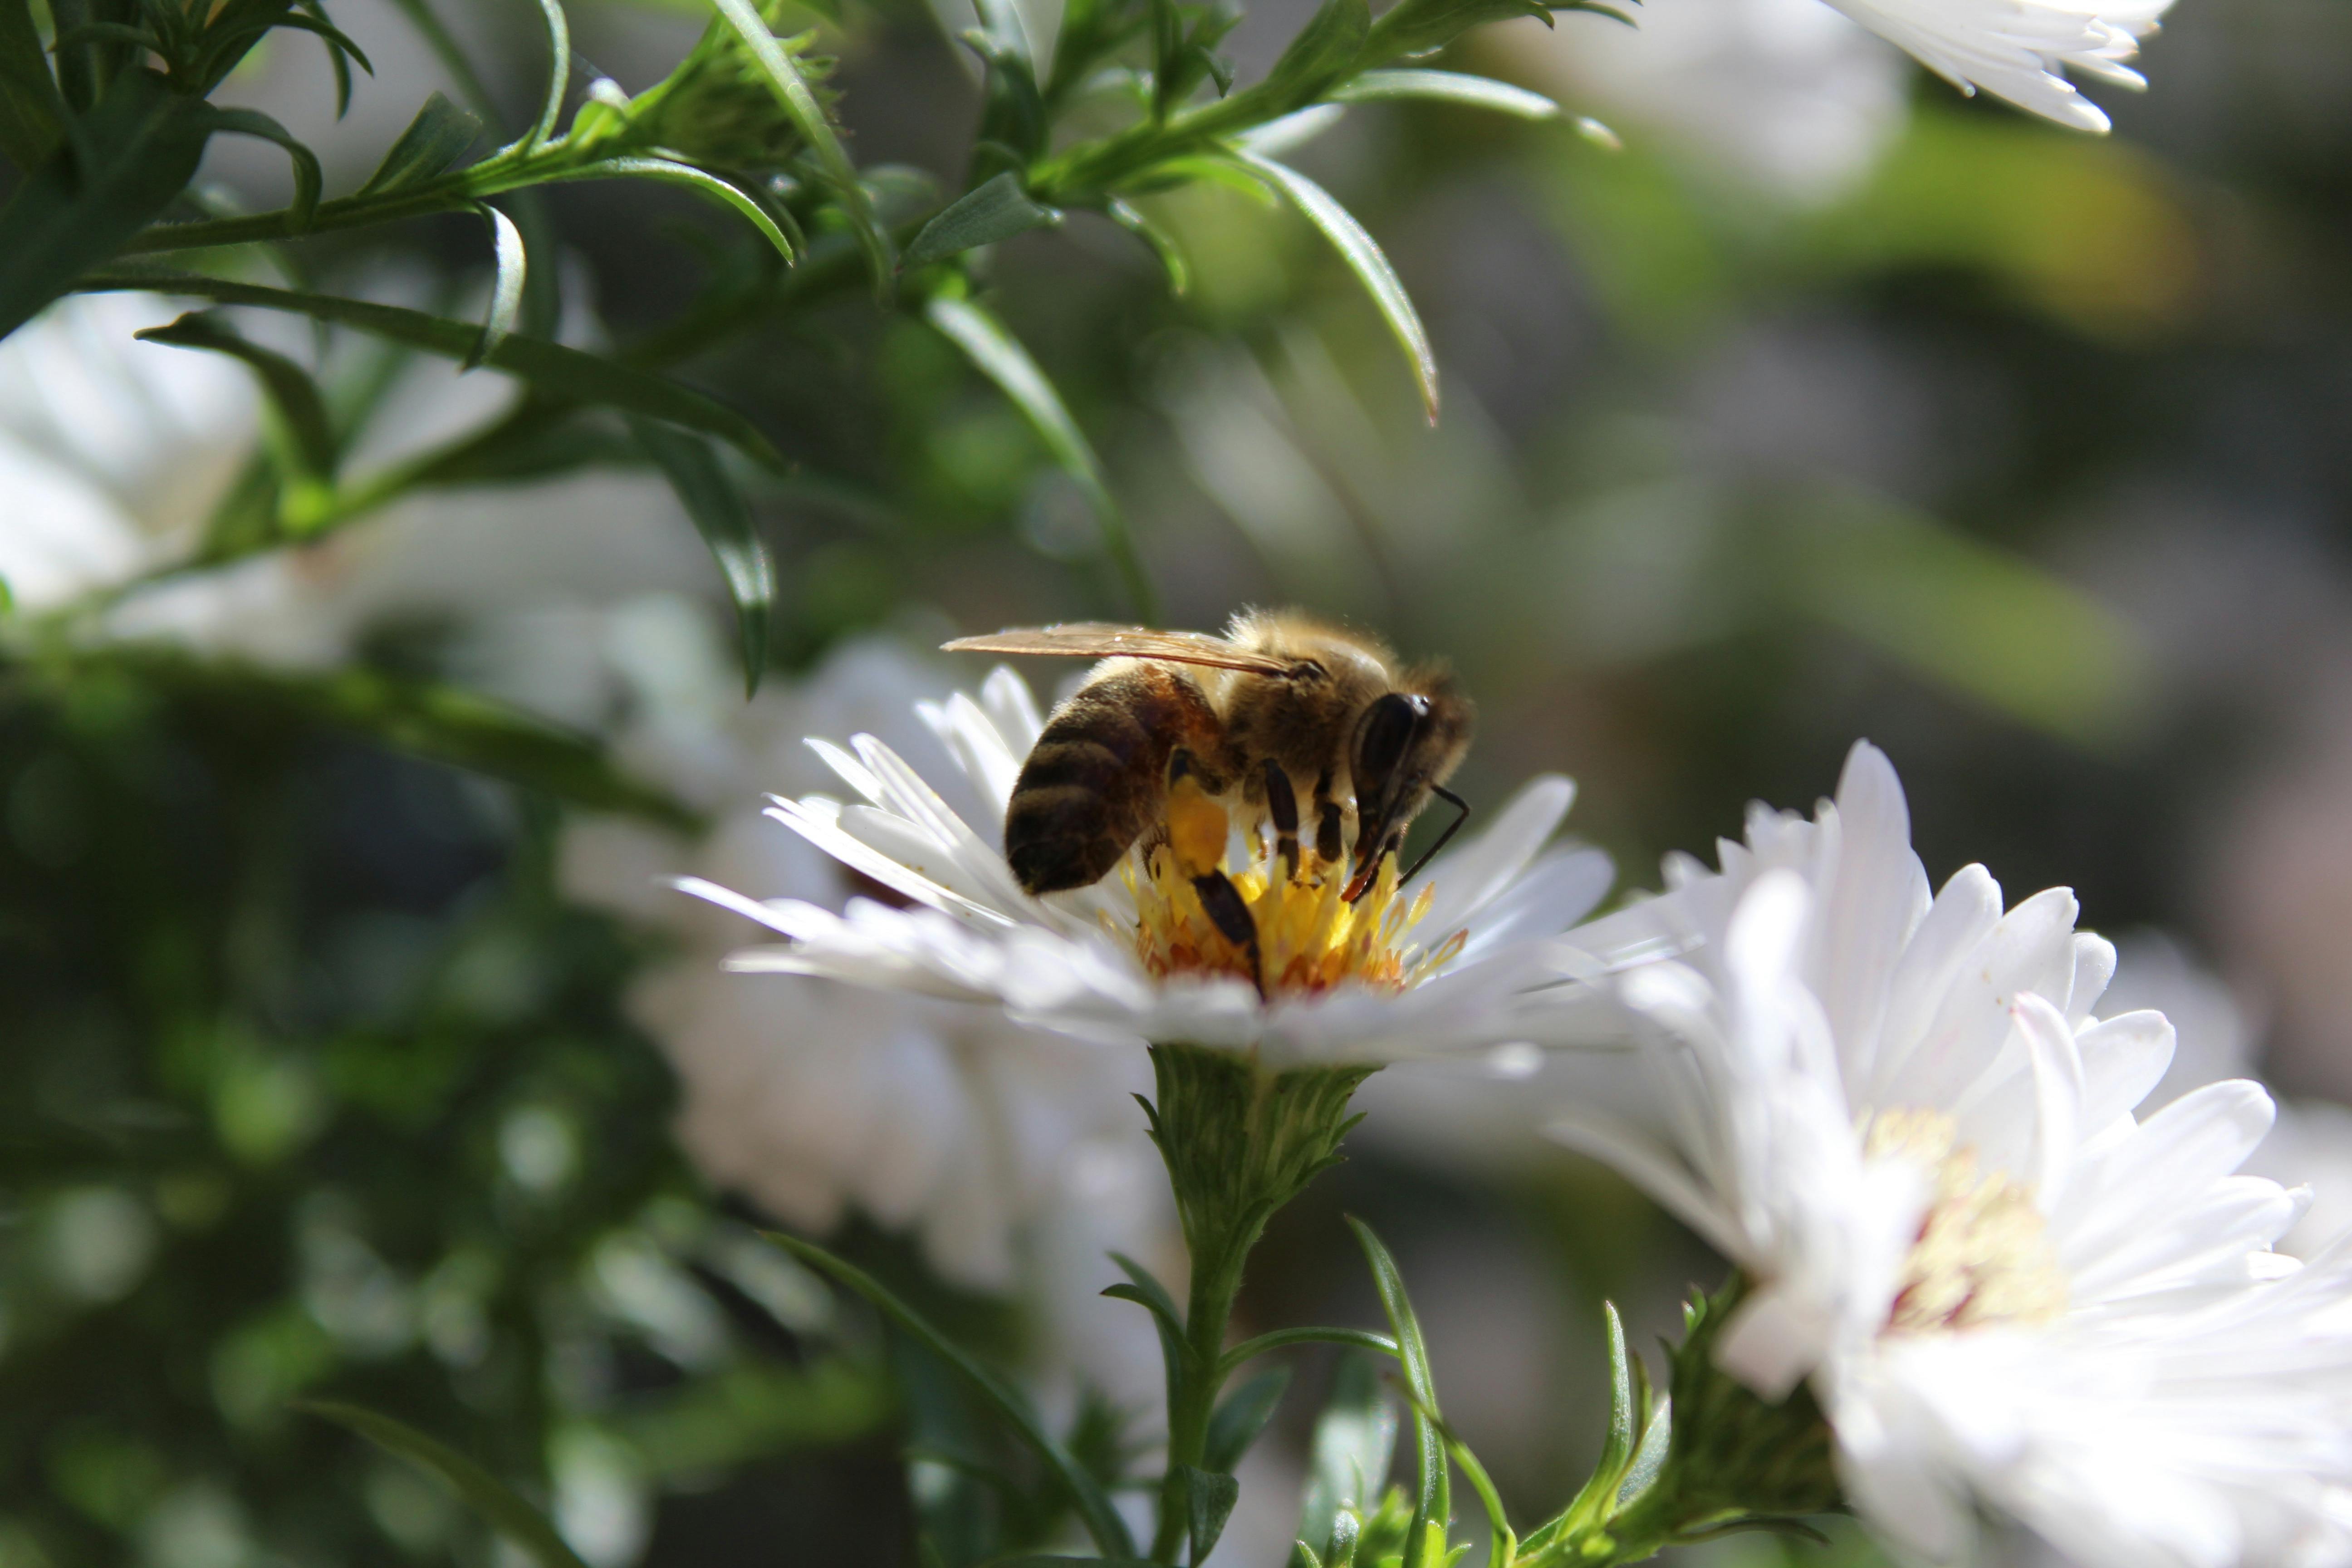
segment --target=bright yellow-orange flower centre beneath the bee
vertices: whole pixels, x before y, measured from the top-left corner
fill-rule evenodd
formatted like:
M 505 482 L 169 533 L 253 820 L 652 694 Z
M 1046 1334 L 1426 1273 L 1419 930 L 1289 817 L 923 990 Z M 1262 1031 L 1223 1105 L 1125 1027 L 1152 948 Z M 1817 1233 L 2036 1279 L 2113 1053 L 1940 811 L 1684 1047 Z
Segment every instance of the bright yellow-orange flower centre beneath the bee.
M 1397 858 L 1385 856 L 1362 898 L 1348 903 L 1345 860 L 1324 860 L 1312 846 L 1282 853 L 1258 844 L 1251 863 L 1225 870 L 1228 816 L 1192 780 L 1169 792 L 1167 837 L 1120 875 L 1136 896 L 1136 957 L 1152 976 L 1235 976 L 1268 999 L 1317 994 L 1345 980 L 1402 992 L 1444 969 L 1470 938 L 1456 931 L 1435 947 L 1411 940 L 1430 910 L 1432 889 L 1411 898 L 1397 889 Z M 1223 875 L 1249 912 L 1249 943 L 1228 933 L 1232 919 L 1211 917 L 1202 882 Z

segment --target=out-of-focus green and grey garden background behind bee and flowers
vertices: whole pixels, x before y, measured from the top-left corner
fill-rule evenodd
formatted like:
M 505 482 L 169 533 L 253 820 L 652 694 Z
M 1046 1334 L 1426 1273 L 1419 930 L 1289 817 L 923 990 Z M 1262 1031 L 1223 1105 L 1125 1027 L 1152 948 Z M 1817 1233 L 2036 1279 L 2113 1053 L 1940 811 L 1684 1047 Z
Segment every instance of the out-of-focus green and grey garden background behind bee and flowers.
M 1244 21 L 1244 78 L 1308 9 Z M 395 5 L 332 12 L 376 61 L 343 122 L 308 40 L 235 85 L 322 150 L 329 190 L 447 87 Z M 454 19 L 522 113 L 536 12 Z M 2166 997 L 2209 1077 L 2258 1065 L 2296 1100 L 2307 1166 L 2345 1164 L 2317 1103 L 2352 1100 L 2352 12 L 2183 0 L 2147 47 L 2154 89 L 2107 94 L 2110 139 L 1964 101 L 1813 0 L 1651 0 L 1637 21 L 1510 24 L 1461 52 L 1590 125 L 1376 106 L 1298 153 L 1432 329 L 1435 428 L 1296 214 L 1164 197 L 1183 299 L 1087 216 L 995 252 L 993 299 L 1103 451 L 1160 618 L 1305 604 L 1451 658 L 1482 705 L 1458 788 L 1576 776 L 1571 825 L 1628 889 L 1750 799 L 1809 806 L 1867 736 L 1931 877 L 1983 860 L 2011 898 L 2074 886 L 2089 926 L 2129 938 L 2119 987 Z M 699 16 L 581 0 L 574 26 L 588 68 L 635 89 Z M 957 26 L 906 0 L 842 19 L 863 165 L 962 165 Z M 285 160 L 219 143 L 207 181 L 266 205 Z M 736 235 L 640 186 L 546 207 L 579 341 L 659 334 L 741 266 Z M 487 284 L 470 219 L 390 254 L 320 240 L 303 266 L 412 299 Z M 47 360 L 26 343 L 54 320 L 0 348 L 0 425 L 19 456 L 80 454 L 162 534 L 256 440 L 252 395 L 129 346 L 167 313 L 85 306 Z M 393 374 L 388 454 L 499 395 Z M 981 675 L 929 661 L 946 635 L 1131 614 L 1084 496 L 917 320 L 776 310 L 691 376 L 800 463 L 755 491 L 781 564 L 769 701 L 842 649 L 894 649 L 946 691 Z M 103 529 L 56 543 L 61 503 L 12 473 L 21 609 L 99 581 Z M 0 1568 L 494 1556 L 301 1396 L 445 1436 L 548 1497 L 595 1568 L 915 1561 L 910 1519 L 953 1476 L 908 1493 L 898 1455 L 962 1441 L 971 1413 L 755 1241 L 818 1220 L 677 1147 L 661 1013 L 633 997 L 715 950 L 579 877 L 581 799 L 609 816 L 635 785 L 494 783 L 268 684 L 428 675 L 722 813 L 814 788 L 771 778 L 800 766 L 771 762 L 788 748 L 741 741 L 729 637 L 659 482 L 583 468 L 174 583 L 125 607 L 113 654 L 0 668 Z M 734 752 L 713 762 L 713 736 Z M 689 839 L 640 844 L 640 870 L 684 870 Z M 1374 1220 L 1449 1413 L 1529 1514 L 1597 1448 L 1599 1302 L 1653 1345 L 1717 1272 L 1531 1133 L 1531 1095 L 1578 1091 L 1383 1074 L 1244 1300 L 1263 1324 L 1371 1321 L 1338 1215 Z M 851 1182 L 823 1222 L 1009 1363 L 1091 1333 L 943 1265 L 906 1204 Z M 1120 1345 L 1089 1349 L 1094 1382 L 1117 1385 Z M 1294 1403 L 1244 1476 L 1270 1526 L 1237 1526 L 1221 1563 L 1277 1561 Z M 1851 1540 L 1712 1552 L 1867 1561 Z

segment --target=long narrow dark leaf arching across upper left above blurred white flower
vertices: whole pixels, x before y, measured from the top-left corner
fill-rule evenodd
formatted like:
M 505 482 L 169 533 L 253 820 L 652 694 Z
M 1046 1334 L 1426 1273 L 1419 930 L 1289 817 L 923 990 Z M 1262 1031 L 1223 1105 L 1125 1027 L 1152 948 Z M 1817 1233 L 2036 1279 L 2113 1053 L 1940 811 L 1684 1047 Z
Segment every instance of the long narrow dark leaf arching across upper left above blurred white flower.
M 111 289 L 151 289 L 160 294 L 188 294 L 212 299 L 223 306 L 261 306 L 266 310 L 294 310 L 336 327 L 350 327 L 379 339 L 407 343 L 445 360 L 463 362 L 482 336 L 473 322 L 452 322 L 423 310 L 400 306 L 376 306 L 362 299 L 339 299 L 334 294 L 306 294 L 299 289 L 270 289 L 263 284 L 230 282 L 226 277 L 202 277 L 169 268 L 120 268 L 94 273 L 80 284 L 85 294 Z M 661 418 L 687 430 L 701 430 L 727 442 L 750 461 L 776 473 L 790 473 L 783 456 L 769 444 L 760 428 L 701 393 L 661 376 L 649 376 L 616 360 L 588 355 L 543 339 L 510 336 L 499 343 L 485 364 L 520 376 L 534 390 L 557 402 L 602 402 L 623 414 Z

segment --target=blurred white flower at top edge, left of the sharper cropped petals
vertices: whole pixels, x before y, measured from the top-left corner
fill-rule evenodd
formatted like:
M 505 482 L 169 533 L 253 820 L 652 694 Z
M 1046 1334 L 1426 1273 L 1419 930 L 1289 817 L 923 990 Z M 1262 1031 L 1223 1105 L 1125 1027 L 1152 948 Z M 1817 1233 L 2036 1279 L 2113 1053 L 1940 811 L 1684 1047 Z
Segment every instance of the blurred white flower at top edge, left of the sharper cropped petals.
M 1910 68 L 1820 0 L 1665 0 L 1639 28 L 1515 21 L 1498 71 L 1616 127 L 1651 127 L 1797 202 L 1846 193 L 1910 120 Z

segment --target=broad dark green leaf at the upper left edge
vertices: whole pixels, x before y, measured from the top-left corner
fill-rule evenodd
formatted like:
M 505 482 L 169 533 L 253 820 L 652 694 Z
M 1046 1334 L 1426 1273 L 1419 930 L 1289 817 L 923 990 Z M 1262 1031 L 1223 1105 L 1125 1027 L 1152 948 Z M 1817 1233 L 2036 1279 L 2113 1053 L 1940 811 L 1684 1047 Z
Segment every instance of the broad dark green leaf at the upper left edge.
M 120 252 L 195 176 L 212 108 L 153 71 L 127 71 L 0 207 L 0 336 Z

